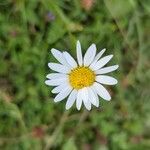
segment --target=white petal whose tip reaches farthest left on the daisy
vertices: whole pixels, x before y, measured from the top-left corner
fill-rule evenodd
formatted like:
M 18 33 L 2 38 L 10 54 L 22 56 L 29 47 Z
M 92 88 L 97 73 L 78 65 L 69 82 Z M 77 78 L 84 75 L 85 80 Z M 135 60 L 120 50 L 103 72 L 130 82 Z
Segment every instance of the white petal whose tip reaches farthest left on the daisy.
M 64 83 L 64 82 L 67 82 L 67 78 L 46 80 L 45 84 L 47 84 L 49 86 L 57 86 L 57 85 L 60 85 L 61 83 Z

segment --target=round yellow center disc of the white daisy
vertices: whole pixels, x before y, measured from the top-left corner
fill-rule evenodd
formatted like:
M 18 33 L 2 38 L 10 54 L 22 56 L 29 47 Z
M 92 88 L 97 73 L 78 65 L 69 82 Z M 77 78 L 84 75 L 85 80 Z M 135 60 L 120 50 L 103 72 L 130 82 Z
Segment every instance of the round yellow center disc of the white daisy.
M 69 74 L 69 82 L 75 89 L 91 86 L 95 81 L 95 73 L 88 67 L 77 67 Z

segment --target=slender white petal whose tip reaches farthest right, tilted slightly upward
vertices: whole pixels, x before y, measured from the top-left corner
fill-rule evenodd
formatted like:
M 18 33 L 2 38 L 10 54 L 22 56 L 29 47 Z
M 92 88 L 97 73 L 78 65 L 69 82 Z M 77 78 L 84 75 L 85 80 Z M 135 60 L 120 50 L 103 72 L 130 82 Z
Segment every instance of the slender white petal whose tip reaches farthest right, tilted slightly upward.
M 96 74 L 105 74 L 105 73 L 109 73 L 109 72 L 112 72 L 112 71 L 117 70 L 118 67 L 119 67 L 119 65 L 114 65 L 114 66 L 104 67 L 104 68 L 101 68 L 101 69 L 99 69 L 99 70 L 96 70 L 95 73 L 96 73 Z

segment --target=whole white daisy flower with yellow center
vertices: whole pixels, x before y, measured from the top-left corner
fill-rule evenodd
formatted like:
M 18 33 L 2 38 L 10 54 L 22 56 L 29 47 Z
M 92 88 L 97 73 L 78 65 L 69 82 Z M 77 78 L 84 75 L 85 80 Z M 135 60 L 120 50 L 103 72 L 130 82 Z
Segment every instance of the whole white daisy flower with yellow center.
M 105 73 L 116 70 L 119 66 L 113 65 L 104 67 L 113 55 L 101 56 L 106 49 L 96 54 L 96 45 L 92 44 L 82 56 L 80 42 L 77 41 L 76 52 L 77 62 L 68 52 L 60 52 L 52 48 L 51 53 L 59 63 L 48 63 L 51 70 L 46 77 L 45 83 L 55 86 L 52 93 L 57 94 L 54 102 L 67 98 L 66 109 L 68 110 L 76 101 L 76 107 L 81 109 L 82 103 L 87 110 L 91 110 L 91 105 L 99 107 L 99 97 L 110 101 L 111 96 L 104 85 L 115 85 L 117 80 Z

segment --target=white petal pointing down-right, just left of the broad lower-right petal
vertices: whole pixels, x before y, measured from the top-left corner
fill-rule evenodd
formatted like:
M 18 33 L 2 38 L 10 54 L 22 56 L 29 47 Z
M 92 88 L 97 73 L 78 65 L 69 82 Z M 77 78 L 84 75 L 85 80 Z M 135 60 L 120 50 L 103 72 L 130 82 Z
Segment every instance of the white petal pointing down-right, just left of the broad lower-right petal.
M 89 101 L 95 105 L 96 107 L 99 107 L 99 99 L 97 94 L 92 90 L 91 87 L 88 88 L 88 93 L 89 93 Z

